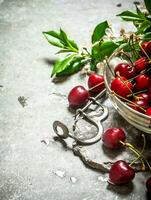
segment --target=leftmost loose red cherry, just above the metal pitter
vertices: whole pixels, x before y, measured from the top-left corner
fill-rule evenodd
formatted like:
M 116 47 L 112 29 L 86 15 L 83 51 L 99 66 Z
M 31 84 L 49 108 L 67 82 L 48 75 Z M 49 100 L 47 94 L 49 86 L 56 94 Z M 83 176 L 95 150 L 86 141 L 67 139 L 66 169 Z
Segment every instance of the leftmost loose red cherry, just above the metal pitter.
M 89 92 L 83 86 L 74 87 L 69 95 L 68 101 L 72 108 L 80 108 L 88 102 Z

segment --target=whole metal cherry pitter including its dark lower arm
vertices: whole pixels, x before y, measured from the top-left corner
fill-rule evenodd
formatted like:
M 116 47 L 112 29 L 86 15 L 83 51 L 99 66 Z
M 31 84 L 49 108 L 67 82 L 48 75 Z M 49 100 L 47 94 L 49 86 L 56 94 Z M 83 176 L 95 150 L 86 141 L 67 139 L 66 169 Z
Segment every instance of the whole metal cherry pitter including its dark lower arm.
M 66 147 L 68 146 L 66 139 L 73 139 L 70 149 L 72 149 L 74 154 L 79 156 L 87 166 L 108 171 L 102 164 L 90 160 L 84 148 L 85 146 L 97 143 L 102 137 L 102 122 L 108 117 L 108 108 L 102 105 L 101 101 L 103 97 L 105 97 L 105 94 L 106 89 L 100 92 L 96 97 L 90 97 L 86 106 L 76 111 L 72 131 L 69 131 L 68 127 L 60 121 L 53 122 L 53 130 L 57 135 L 57 140 Z M 91 137 L 86 137 L 86 134 L 80 131 L 79 126 L 77 126 L 80 120 L 84 120 L 96 128 L 95 133 L 91 134 Z M 77 134 L 77 132 L 80 132 L 80 134 Z

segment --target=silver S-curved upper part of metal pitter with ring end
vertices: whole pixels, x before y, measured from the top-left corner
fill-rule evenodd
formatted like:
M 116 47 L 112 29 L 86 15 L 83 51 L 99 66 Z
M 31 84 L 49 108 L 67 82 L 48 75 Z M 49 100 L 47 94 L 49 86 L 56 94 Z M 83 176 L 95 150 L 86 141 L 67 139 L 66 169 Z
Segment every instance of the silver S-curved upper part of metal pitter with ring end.
M 63 124 L 60 121 L 54 121 L 53 129 L 55 133 L 59 136 L 59 138 L 64 140 L 70 137 L 70 138 L 73 138 L 76 143 L 83 144 L 83 145 L 93 144 L 101 139 L 101 136 L 103 133 L 103 126 L 101 122 L 105 120 L 106 117 L 108 116 L 108 109 L 107 107 L 103 106 L 98 100 L 105 94 L 105 91 L 106 90 L 104 89 L 95 98 L 91 97 L 89 99 L 89 102 L 84 108 L 78 109 L 76 111 L 76 114 L 74 116 L 74 124 L 72 127 L 72 132 L 73 132 L 72 134 L 69 132 L 69 129 L 67 128 L 65 124 Z M 90 110 L 92 105 L 96 106 L 95 110 L 93 109 Z M 97 134 L 94 134 L 94 136 L 91 138 L 77 137 L 75 132 L 77 128 L 77 123 L 81 119 L 95 126 L 97 128 Z M 61 131 L 58 130 L 58 127 L 62 129 L 62 133 Z

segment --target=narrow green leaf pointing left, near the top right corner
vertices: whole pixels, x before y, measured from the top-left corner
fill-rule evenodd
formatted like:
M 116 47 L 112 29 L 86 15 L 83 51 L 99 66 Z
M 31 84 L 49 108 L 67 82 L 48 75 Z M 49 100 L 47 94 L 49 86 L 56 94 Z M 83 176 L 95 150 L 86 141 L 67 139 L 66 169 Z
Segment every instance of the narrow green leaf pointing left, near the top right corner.
M 143 21 L 144 19 L 139 15 L 134 12 L 131 12 L 129 10 L 124 11 L 117 16 L 120 16 L 123 20 L 125 21 Z

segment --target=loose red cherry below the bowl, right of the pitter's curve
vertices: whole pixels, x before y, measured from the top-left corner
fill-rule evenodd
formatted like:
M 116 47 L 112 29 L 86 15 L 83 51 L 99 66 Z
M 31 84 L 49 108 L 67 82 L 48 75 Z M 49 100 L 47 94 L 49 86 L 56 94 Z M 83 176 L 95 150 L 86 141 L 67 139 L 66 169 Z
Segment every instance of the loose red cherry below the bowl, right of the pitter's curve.
M 125 132 L 120 128 L 109 128 L 102 136 L 104 146 L 110 149 L 117 149 L 121 147 L 120 141 L 125 141 Z

